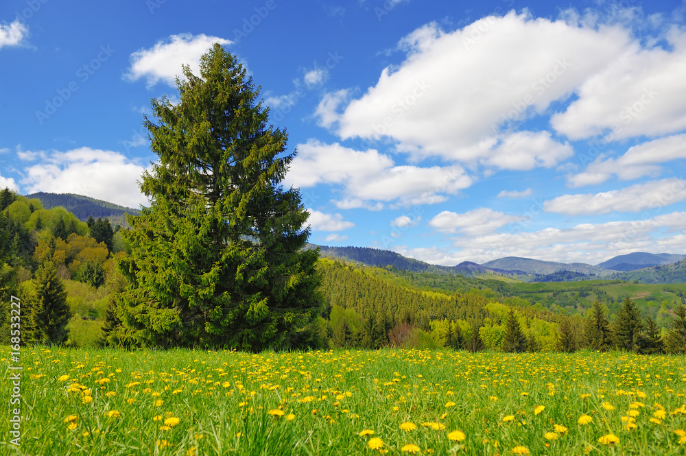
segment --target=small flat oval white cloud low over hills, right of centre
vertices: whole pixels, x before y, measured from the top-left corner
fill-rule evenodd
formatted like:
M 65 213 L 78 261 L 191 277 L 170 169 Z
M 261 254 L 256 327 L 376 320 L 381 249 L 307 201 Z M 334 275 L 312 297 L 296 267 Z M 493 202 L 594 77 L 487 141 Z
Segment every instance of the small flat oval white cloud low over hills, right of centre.
M 493 211 L 493 209 L 478 208 L 462 214 L 442 211 L 429 221 L 429 225 L 439 232 L 449 234 L 460 232 L 462 235 L 471 236 L 493 232 L 501 226 L 517 221 L 517 219 L 518 217 Z

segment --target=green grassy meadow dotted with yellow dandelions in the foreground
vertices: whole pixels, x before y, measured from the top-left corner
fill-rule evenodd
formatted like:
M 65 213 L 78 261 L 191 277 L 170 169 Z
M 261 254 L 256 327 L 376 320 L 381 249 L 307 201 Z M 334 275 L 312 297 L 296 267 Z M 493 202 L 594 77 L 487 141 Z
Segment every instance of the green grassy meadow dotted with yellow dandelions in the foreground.
M 21 364 L 21 446 L 5 419 L 2 455 L 686 453 L 684 357 L 26 348 Z

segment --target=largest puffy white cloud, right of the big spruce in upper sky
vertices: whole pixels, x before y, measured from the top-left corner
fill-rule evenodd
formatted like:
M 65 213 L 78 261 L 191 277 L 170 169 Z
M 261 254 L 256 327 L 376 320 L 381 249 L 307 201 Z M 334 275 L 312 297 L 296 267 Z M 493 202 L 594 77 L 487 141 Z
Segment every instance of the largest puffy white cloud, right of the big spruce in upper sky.
M 387 136 L 420 157 L 551 167 L 569 157 L 568 145 L 545 132 L 508 136 L 501 127 L 566 99 L 628 43 L 620 27 L 589 29 L 514 12 L 449 33 L 427 25 L 401 40 L 408 55 L 397 69 L 384 69 L 341 113 L 338 97 L 322 100 L 318 113 L 322 125 L 338 121 L 343 139 Z

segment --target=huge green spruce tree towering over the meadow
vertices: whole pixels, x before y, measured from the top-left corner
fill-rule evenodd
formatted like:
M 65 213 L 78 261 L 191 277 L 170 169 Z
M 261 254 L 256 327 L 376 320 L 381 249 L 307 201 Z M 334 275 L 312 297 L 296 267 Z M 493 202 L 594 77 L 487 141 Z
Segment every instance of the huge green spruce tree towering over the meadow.
M 144 173 L 150 208 L 130 217 L 132 256 L 119 265 L 115 329 L 132 344 L 289 347 L 320 313 L 318 250 L 305 250 L 308 213 L 284 189 L 294 154 L 268 126 L 259 89 L 216 44 L 178 80 L 180 103 L 145 117 L 158 163 Z

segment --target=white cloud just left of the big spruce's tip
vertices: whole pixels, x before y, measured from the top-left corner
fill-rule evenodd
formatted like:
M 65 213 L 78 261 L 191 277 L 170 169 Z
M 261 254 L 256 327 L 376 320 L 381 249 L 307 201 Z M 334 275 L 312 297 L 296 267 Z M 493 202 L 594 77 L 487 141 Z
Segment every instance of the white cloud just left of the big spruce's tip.
M 124 75 L 130 81 L 145 77 L 150 88 L 159 81 L 175 87 L 176 76 L 182 76 L 181 65 L 187 64 L 193 74 L 200 73 L 200 57 L 209 51 L 214 43 L 230 45 L 229 40 L 217 36 L 200 34 L 171 35 L 150 49 L 139 49 L 131 54 L 131 67 Z

